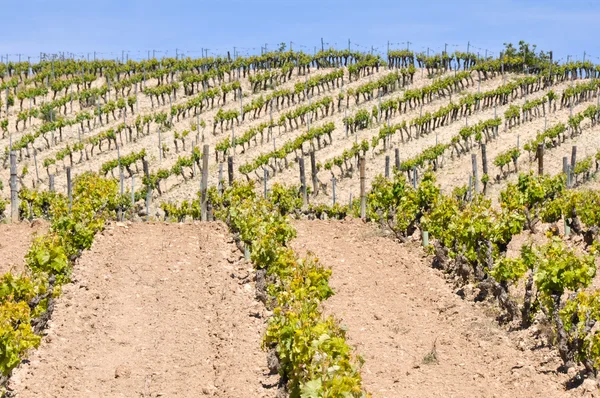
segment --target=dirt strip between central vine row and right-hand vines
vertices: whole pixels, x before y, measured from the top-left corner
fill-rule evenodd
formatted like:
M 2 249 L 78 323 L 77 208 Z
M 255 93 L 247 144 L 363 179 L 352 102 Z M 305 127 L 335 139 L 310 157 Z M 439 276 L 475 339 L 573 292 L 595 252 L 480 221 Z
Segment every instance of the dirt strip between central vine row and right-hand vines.
M 565 391 L 556 353 L 518 349 L 483 308 L 452 292 L 420 248 L 360 220 L 294 225 L 295 250 L 333 270 L 326 311 L 348 328 L 374 397 L 594 396 L 587 385 Z

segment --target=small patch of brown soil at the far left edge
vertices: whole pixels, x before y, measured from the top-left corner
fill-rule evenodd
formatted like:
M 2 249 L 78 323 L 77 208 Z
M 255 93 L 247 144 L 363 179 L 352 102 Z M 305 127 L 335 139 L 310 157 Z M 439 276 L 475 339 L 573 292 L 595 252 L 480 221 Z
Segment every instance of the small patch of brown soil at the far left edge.
M 47 223 L 43 221 L 0 224 L 0 275 L 20 273 L 25 269 L 25 255 L 31 242 L 47 228 Z

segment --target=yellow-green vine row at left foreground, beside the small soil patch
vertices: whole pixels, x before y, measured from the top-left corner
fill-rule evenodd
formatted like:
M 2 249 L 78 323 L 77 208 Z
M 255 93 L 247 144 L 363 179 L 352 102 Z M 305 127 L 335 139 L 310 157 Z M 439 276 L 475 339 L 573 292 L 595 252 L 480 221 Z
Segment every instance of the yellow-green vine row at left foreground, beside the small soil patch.
M 6 274 L 0 279 L 0 372 L 8 375 L 40 337 L 32 329 L 34 318 L 68 282 L 72 261 L 91 246 L 95 233 L 115 214 L 122 198 L 117 182 L 85 173 L 74 180 L 73 204 L 63 195 L 23 189 L 21 214 L 51 218 L 50 231 L 34 239 L 25 256 L 31 276 Z M 56 283 L 51 292 L 49 281 Z

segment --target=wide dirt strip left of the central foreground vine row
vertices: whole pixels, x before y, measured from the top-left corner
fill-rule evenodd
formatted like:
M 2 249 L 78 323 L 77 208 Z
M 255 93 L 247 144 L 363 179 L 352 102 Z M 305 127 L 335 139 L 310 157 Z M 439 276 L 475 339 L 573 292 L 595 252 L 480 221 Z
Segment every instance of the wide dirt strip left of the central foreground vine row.
M 17 397 L 273 397 L 251 265 L 227 228 L 109 226 L 64 287 Z

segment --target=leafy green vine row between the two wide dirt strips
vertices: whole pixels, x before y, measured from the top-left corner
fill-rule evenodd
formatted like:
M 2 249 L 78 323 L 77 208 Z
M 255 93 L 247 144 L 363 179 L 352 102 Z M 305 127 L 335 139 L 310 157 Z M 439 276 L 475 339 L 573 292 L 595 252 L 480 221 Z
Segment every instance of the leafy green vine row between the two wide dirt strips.
M 298 189 L 275 184 L 265 200 L 252 183 L 234 182 L 220 196 L 209 190 L 215 215 L 250 250 L 254 266 L 266 269 L 273 283 L 268 293 L 276 307 L 269 319 L 265 348 L 275 348 L 291 396 L 364 397 L 360 362 L 345 332 L 320 303 L 333 294 L 331 271 L 312 257 L 298 259 L 287 247 L 296 232 L 285 214 L 301 205 Z

